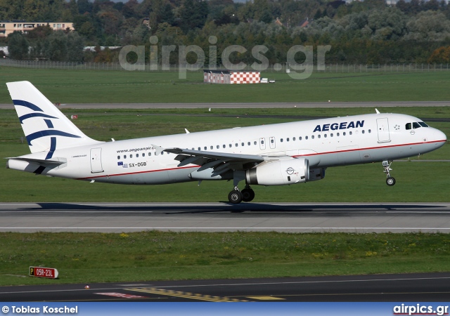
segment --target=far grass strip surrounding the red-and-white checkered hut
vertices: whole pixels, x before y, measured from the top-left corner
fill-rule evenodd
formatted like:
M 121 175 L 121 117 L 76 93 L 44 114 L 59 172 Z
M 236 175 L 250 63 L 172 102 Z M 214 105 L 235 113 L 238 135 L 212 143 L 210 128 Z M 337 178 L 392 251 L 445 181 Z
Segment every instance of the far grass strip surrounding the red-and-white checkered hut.
M 53 103 L 233 103 L 450 100 L 448 72 L 313 73 L 294 80 L 262 73 L 276 84 L 203 84 L 202 72 L 28 70 L 0 67 L 0 103 L 9 81 L 31 81 Z

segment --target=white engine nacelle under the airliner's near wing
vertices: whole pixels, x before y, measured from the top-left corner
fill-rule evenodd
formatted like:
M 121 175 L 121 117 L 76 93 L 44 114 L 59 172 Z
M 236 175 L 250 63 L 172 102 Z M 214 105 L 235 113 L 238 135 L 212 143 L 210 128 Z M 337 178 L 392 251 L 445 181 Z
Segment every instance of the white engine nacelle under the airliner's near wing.
M 309 178 L 308 159 L 284 159 L 269 162 L 245 171 L 250 185 L 290 185 L 307 182 Z

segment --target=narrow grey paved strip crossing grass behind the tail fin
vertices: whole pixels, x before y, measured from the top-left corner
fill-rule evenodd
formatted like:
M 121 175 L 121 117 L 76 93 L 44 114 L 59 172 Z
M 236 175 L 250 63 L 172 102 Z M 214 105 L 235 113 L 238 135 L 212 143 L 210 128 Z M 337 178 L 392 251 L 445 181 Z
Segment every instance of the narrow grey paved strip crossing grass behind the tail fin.
M 303 102 L 303 103 L 72 103 L 61 109 L 234 109 L 283 107 L 448 107 L 450 101 L 405 102 Z M 0 104 L 0 109 L 12 109 L 12 103 Z

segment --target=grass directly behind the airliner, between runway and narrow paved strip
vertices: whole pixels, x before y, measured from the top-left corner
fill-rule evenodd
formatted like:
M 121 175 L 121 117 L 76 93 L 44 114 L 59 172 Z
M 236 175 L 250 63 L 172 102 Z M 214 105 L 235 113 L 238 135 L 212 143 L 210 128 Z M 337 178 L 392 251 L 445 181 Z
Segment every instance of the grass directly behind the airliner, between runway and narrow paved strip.
M 98 140 L 116 140 L 146 136 L 184 133 L 235 126 L 293 121 L 297 113 L 311 117 L 345 116 L 366 113 L 369 109 L 278 109 L 278 110 L 66 110 L 78 114 L 75 124 L 88 136 Z M 449 108 L 400 108 L 398 112 L 419 117 L 449 117 Z M 175 112 L 174 112 L 175 111 Z M 297 112 L 296 112 L 297 111 Z M 236 114 L 237 113 L 237 114 Z M 247 113 L 247 115 L 245 115 Z M 252 114 L 258 114 L 254 117 Z M 273 114 L 278 117 L 272 117 Z M 426 121 L 426 119 L 425 119 Z M 432 126 L 450 135 L 450 122 L 436 122 Z M 15 157 L 29 152 L 20 141 L 23 131 L 14 110 L 0 112 L 1 157 Z M 412 160 L 449 159 L 450 146 Z M 381 164 L 365 164 L 330 168 L 321 181 L 283 187 L 253 187 L 255 202 L 449 202 L 443 187 L 449 185 L 448 162 L 396 162 L 392 175 L 397 179 L 394 187 L 385 184 Z M 432 175 L 432 177 L 430 176 Z M 1 202 L 217 202 L 226 201 L 231 183 L 203 181 L 174 185 L 136 186 L 89 183 L 61 178 L 34 176 L 11 169 L 0 169 Z M 50 190 L 49 190 L 50 188 Z M 53 188 L 53 189 L 52 189 Z M 176 195 L 173 194 L 176 192 Z M 326 192 L 326 194 L 324 194 Z M 357 194 L 355 194 L 357 192 Z

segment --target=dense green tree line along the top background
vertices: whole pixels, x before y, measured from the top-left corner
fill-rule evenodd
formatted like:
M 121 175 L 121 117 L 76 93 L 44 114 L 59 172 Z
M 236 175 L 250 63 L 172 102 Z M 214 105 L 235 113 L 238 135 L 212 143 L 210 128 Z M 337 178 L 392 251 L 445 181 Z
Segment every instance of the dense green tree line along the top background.
M 295 45 L 330 45 L 327 63 L 450 62 L 450 5 L 437 0 L 395 6 L 384 0 L 0 0 L 0 20 L 74 23 L 75 32 L 39 27 L 10 34 L 4 41 L 15 59 L 115 62 L 117 51 L 82 47 L 144 45 L 148 52 L 155 35 L 160 47 L 200 46 L 206 64 L 211 36 L 217 37 L 218 63 L 231 45 L 247 49 L 233 53 L 233 62 L 254 61 L 257 45 L 269 48 L 270 63 L 285 62 Z M 176 53 L 171 63 L 178 62 Z

